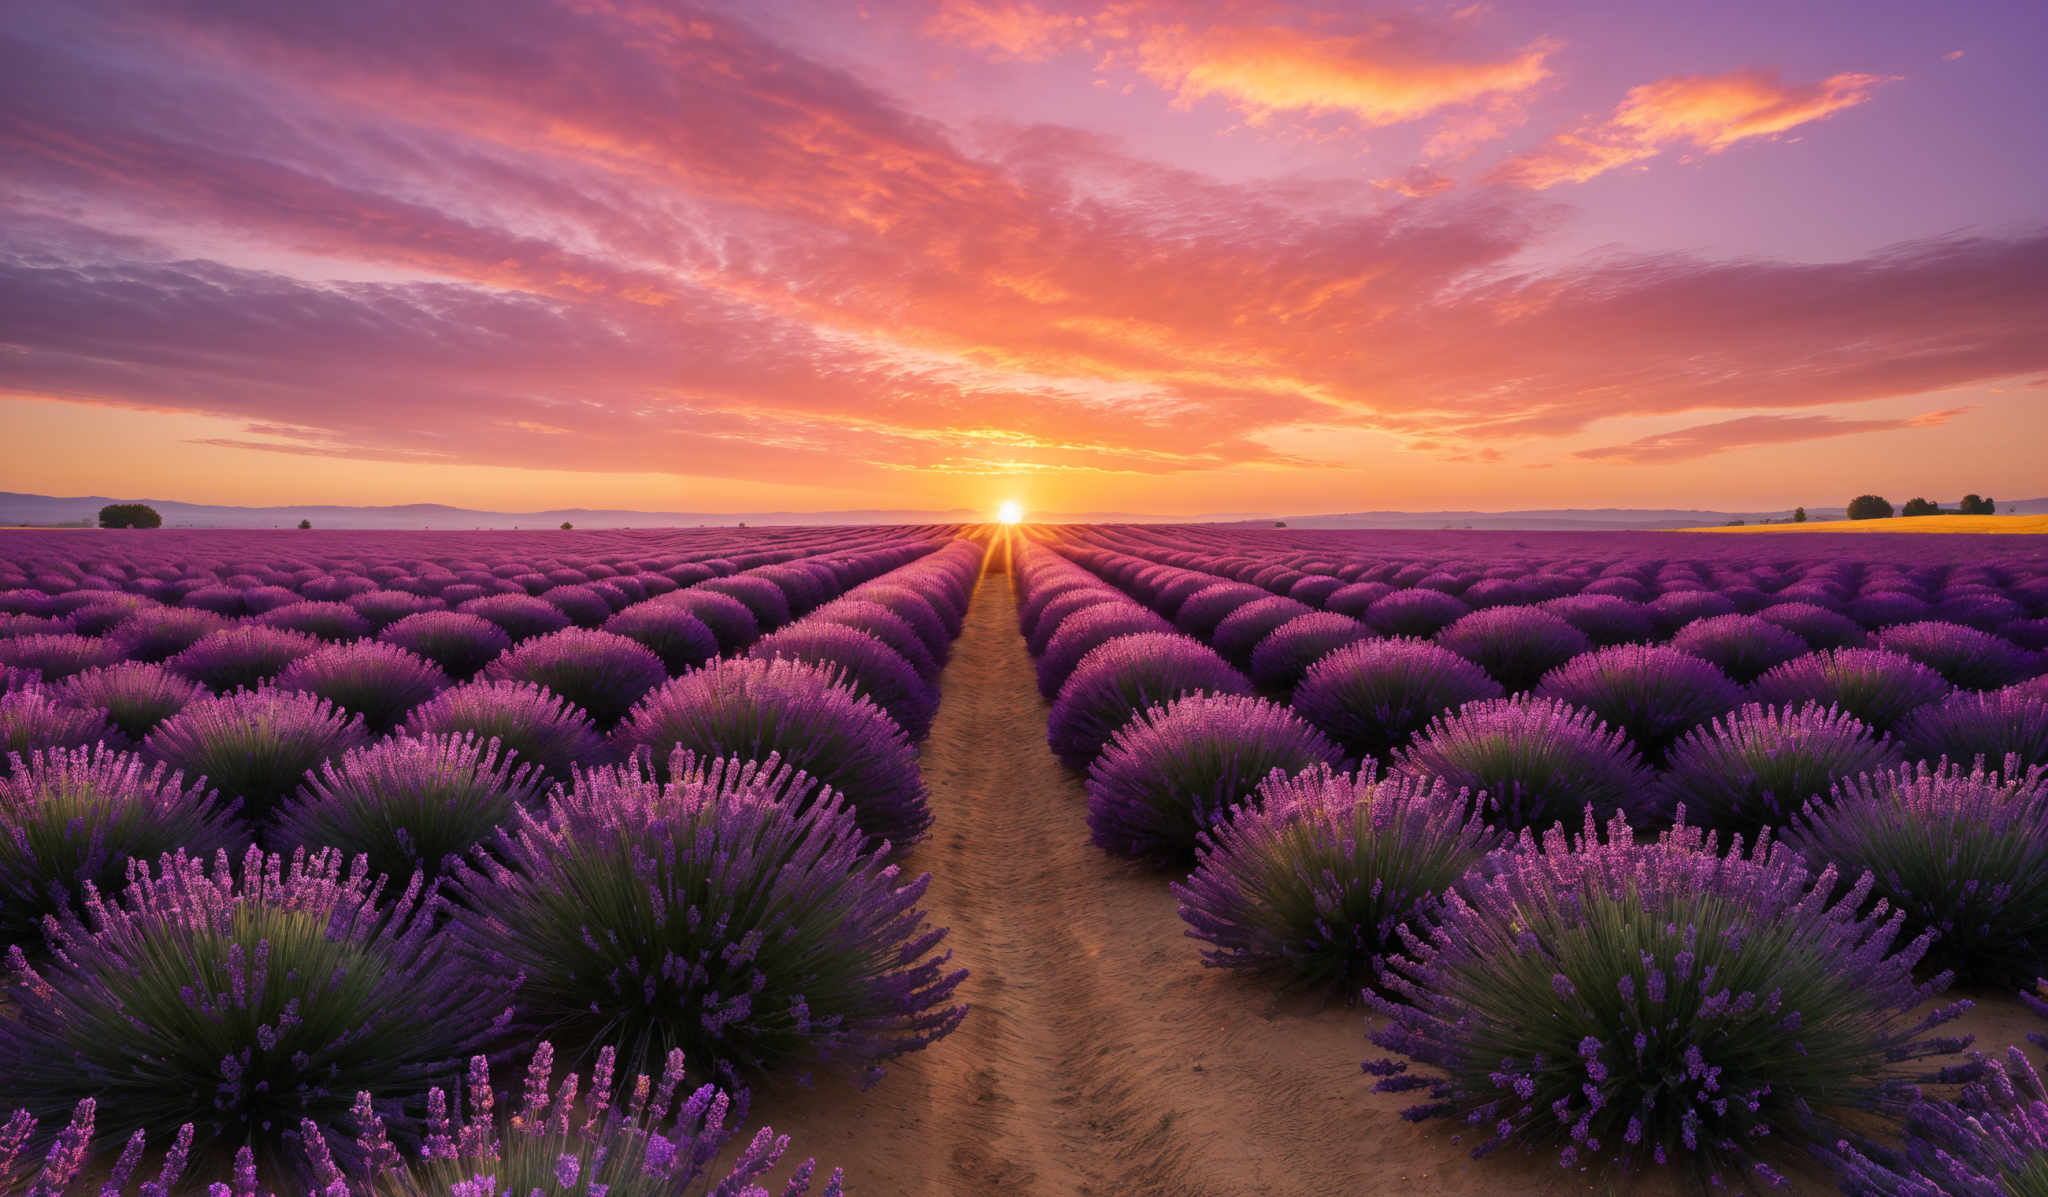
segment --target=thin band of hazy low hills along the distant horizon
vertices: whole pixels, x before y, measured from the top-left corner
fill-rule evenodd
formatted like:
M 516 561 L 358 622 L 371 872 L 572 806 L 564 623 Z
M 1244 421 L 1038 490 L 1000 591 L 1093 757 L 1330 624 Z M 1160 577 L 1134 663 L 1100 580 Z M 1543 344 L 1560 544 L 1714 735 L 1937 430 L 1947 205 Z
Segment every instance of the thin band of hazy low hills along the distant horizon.
M 563 521 L 580 529 L 655 529 L 655 527 L 733 527 L 745 525 L 928 525 L 928 523 L 979 523 L 987 512 L 973 508 L 948 510 L 756 510 L 756 512 L 692 512 L 692 510 L 614 510 L 614 508 L 559 508 L 559 510 L 473 510 L 467 506 L 446 506 L 438 502 L 408 502 L 399 506 L 221 506 L 203 502 L 178 502 L 170 498 L 106 498 L 76 496 L 53 498 L 47 494 L 0 492 L 0 527 L 6 525 L 86 525 L 90 527 L 98 510 L 109 502 L 147 502 L 164 517 L 164 527 L 184 529 L 274 529 L 293 527 L 301 519 L 315 529 L 551 529 Z M 2019 514 L 2048 514 L 2048 498 L 2028 498 L 2007 504 L 1999 500 L 1999 512 L 2007 506 Z M 1759 523 L 1763 519 L 1788 519 L 1786 510 L 1659 510 L 1659 508 L 1542 508 L 1542 510 L 1362 510 L 1346 514 L 1255 514 L 1219 512 L 1200 517 L 1163 517 L 1122 510 L 1087 512 L 1032 512 L 1038 523 L 1206 523 L 1225 527 L 1272 527 L 1284 523 L 1290 529 L 1493 529 L 1493 531 L 1647 531 L 1647 529 L 1692 529 L 1724 525 L 1733 521 Z M 1839 506 L 1808 506 L 1806 514 L 1843 519 Z

